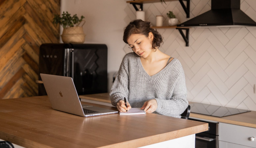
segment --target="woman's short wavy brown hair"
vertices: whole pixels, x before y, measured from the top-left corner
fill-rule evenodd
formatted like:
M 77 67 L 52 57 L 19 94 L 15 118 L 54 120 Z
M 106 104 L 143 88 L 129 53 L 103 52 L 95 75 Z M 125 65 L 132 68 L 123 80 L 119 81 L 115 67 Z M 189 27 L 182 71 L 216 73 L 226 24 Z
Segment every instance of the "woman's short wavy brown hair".
M 163 44 L 162 36 L 157 30 L 150 28 L 150 22 L 136 19 L 131 21 L 129 25 L 125 27 L 123 41 L 128 44 L 127 40 L 132 34 L 143 34 L 148 37 L 148 34 L 152 32 L 154 39 L 152 40 L 152 49 L 157 49 Z

